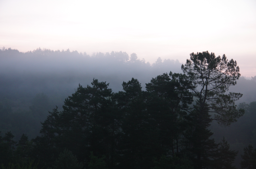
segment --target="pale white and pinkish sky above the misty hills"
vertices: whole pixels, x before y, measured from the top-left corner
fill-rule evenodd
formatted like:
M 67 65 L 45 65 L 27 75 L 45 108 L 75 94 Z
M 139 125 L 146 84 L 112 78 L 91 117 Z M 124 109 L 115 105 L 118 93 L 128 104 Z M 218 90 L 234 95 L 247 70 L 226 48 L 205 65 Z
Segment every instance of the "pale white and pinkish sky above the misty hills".
M 256 0 L 0 0 L 0 48 L 136 53 L 185 63 L 209 51 L 256 75 Z

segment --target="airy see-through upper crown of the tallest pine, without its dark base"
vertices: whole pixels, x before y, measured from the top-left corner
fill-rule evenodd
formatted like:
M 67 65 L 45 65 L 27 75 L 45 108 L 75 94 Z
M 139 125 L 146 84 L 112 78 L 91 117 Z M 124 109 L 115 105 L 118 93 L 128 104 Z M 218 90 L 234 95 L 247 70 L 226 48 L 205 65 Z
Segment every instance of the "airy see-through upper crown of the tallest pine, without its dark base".
M 240 77 L 236 61 L 229 60 L 225 54 L 216 57 L 214 53 L 191 53 L 190 59 L 181 66 L 187 80 L 192 82 L 191 90 L 196 98 L 196 111 L 214 113 L 214 118 L 222 125 L 230 125 L 243 116 L 243 109 L 236 109 L 235 101 L 240 93 L 229 92 Z

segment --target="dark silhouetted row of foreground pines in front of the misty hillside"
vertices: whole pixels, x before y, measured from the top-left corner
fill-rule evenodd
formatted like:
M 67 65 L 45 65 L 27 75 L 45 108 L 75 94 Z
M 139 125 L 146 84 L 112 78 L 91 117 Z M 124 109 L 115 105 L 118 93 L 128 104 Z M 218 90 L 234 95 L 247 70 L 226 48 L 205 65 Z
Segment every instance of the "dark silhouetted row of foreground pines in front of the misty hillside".
M 146 91 L 134 78 L 116 93 L 97 79 L 79 85 L 63 110 L 49 112 L 41 136 L 23 134 L 18 144 L 11 132 L 0 138 L 2 168 L 235 168 L 237 151 L 225 138 L 216 143 L 209 126 L 244 115 L 235 105 L 242 94 L 227 92 L 239 67 L 225 55 L 190 56 L 182 74 L 158 75 Z M 255 167 L 255 151 L 244 149 L 243 168 Z

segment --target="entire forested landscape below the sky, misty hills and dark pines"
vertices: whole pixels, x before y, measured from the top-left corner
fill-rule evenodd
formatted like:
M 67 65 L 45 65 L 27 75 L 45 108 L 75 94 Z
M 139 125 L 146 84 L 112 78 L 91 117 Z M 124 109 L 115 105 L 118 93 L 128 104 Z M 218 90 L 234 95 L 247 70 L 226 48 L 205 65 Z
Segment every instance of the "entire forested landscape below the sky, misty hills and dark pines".
M 2 168 L 256 168 L 256 76 L 225 55 L 3 48 L 0 79 Z

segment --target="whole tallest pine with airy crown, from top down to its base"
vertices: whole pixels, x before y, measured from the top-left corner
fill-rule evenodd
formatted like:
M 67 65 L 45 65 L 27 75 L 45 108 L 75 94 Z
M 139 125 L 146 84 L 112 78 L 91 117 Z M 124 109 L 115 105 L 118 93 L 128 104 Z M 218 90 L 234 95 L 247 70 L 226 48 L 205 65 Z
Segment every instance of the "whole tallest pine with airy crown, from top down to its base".
M 195 104 L 188 111 L 190 128 L 186 137 L 190 146 L 189 151 L 194 154 L 196 169 L 211 167 L 214 150 L 217 144 L 210 139 L 212 132 L 208 129 L 212 120 L 228 126 L 240 116 L 243 109 L 236 109 L 235 101 L 242 97 L 240 93 L 229 92 L 228 88 L 236 84 L 240 77 L 236 61 L 227 60 L 225 54 L 216 57 L 208 51 L 191 53 L 190 60 L 181 66 L 186 75 L 186 81 L 191 83 L 190 90 L 196 99 Z M 214 117 L 211 117 L 214 114 Z

